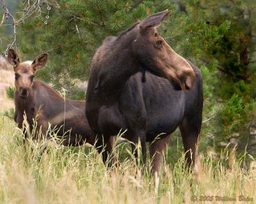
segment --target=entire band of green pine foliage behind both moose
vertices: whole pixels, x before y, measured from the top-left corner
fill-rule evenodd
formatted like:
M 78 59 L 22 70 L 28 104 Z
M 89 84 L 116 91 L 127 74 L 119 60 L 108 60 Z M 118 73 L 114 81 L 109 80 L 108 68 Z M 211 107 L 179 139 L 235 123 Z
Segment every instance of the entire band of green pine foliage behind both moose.
M 31 60 L 48 52 L 49 62 L 38 77 L 65 90 L 68 98 L 83 99 L 85 91 L 76 83 L 88 80 L 102 40 L 152 13 L 171 10 L 158 30 L 175 52 L 202 71 L 201 140 L 213 146 L 213 140 L 228 141 L 234 133 L 248 138 L 248 124 L 255 124 L 255 7 L 256 1 L 245 0 L 52 1 L 47 24 L 44 15 L 32 16 L 17 28 L 19 53 L 22 60 Z

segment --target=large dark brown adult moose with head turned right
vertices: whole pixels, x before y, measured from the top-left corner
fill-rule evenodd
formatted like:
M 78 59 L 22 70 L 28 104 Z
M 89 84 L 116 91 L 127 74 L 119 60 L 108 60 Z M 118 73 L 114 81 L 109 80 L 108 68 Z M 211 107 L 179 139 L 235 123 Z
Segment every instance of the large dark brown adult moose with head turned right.
M 118 37 L 107 37 L 95 52 L 86 94 L 86 116 L 106 159 L 113 135 L 141 143 L 145 163 L 150 142 L 152 171 L 159 164 L 169 135 L 178 126 L 189 166 L 195 163 L 202 124 L 202 76 L 198 68 L 175 53 L 157 33 L 168 17 L 165 10 L 137 22 Z M 161 138 L 153 142 L 157 135 Z M 103 138 L 102 136 L 103 135 Z

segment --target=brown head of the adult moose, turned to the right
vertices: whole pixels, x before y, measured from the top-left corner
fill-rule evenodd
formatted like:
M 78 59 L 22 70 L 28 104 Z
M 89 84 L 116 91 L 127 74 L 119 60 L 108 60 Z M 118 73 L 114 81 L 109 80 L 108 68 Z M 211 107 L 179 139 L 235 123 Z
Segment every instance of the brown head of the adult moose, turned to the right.
M 195 72 L 189 63 L 164 41 L 157 33 L 157 27 L 168 17 L 165 10 L 145 18 L 138 24 L 136 40 L 132 49 L 138 61 L 153 69 L 162 77 L 179 83 L 183 91 L 188 91 L 195 82 Z

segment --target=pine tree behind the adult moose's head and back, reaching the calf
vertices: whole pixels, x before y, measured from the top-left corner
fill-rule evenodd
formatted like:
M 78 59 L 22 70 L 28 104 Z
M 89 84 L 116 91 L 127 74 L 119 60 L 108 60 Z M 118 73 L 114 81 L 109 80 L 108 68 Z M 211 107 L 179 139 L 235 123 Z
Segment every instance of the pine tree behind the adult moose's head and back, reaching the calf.
M 228 29 L 228 22 L 223 22 L 220 29 L 204 21 L 191 24 L 188 15 L 176 7 L 170 1 L 60 1 L 52 4 L 47 24 L 41 16 L 22 26 L 24 36 L 30 32 L 40 34 L 36 36 L 36 45 L 27 44 L 20 50 L 29 55 L 48 52 L 49 64 L 38 71 L 38 77 L 51 82 L 56 89 L 65 89 L 68 96 L 81 99 L 84 92 L 74 84 L 77 80 L 88 80 L 90 62 L 102 40 L 116 36 L 139 19 L 157 11 L 172 10 L 159 31 L 174 50 L 189 59 L 198 58 Z M 203 44 L 206 40 L 209 42 Z

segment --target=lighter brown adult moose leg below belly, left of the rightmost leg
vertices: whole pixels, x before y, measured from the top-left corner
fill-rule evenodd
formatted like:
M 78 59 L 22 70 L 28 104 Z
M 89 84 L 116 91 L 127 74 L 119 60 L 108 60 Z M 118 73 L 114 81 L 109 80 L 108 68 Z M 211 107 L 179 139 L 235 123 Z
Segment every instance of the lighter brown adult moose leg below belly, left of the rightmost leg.
M 170 135 L 164 138 L 159 138 L 159 140 L 156 140 L 149 145 L 150 159 L 152 162 L 152 174 L 155 172 L 159 173 L 160 165 L 163 163 L 164 152 L 169 143 L 169 138 Z

